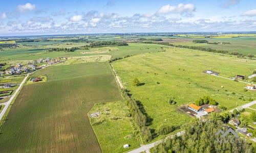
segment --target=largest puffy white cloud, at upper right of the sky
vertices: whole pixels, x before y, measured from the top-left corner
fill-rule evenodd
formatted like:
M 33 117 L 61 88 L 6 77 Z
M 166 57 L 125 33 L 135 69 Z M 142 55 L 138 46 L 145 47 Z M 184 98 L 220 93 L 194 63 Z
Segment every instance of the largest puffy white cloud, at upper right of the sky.
M 168 5 L 165 5 L 163 6 L 161 9 L 158 10 L 157 13 L 179 13 L 179 14 L 182 14 L 182 13 L 192 13 L 196 11 L 196 8 L 193 4 L 179 4 L 178 6 L 170 6 L 169 4 Z

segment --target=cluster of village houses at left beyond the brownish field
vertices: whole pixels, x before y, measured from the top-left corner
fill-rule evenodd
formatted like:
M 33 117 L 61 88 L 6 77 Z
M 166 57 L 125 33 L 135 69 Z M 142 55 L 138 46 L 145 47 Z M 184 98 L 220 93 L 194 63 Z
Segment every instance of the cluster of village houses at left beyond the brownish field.
M 31 71 L 34 71 L 36 69 L 40 69 L 42 67 L 46 67 L 48 65 L 53 65 L 53 64 L 56 64 L 56 63 L 59 63 L 61 62 L 62 60 L 67 60 L 67 58 L 65 57 L 58 57 L 56 59 L 54 58 L 46 58 L 46 59 L 38 59 L 38 60 L 34 60 L 32 62 L 28 62 L 27 64 L 28 65 L 22 65 L 20 63 L 18 63 L 17 65 L 15 66 L 10 66 L 8 68 L 6 68 L 5 70 L 6 71 L 2 71 L 0 72 L 0 76 L 1 75 L 4 75 L 4 74 L 22 74 L 22 73 L 28 73 L 28 72 L 31 72 Z M 38 65 L 38 66 L 37 66 Z M 0 65 L 0 69 L 3 67 L 3 65 Z

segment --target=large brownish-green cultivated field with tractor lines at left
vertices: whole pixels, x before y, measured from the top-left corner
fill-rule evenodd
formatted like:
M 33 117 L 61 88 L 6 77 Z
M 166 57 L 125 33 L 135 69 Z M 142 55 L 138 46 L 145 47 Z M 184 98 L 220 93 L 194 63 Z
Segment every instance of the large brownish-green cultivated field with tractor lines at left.
M 1 127 L 1 152 L 101 152 L 87 116 L 121 100 L 106 62 L 51 66 L 48 82 L 25 85 Z

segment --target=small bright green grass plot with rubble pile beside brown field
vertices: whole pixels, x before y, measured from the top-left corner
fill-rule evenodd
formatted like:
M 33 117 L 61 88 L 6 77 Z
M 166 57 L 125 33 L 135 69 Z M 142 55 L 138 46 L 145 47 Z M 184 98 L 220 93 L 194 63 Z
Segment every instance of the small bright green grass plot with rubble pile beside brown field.
M 139 147 L 125 101 L 95 104 L 88 115 L 95 112 L 101 114 L 90 120 L 102 152 L 124 152 Z M 130 147 L 125 149 L 124 144 L 129 144 Z

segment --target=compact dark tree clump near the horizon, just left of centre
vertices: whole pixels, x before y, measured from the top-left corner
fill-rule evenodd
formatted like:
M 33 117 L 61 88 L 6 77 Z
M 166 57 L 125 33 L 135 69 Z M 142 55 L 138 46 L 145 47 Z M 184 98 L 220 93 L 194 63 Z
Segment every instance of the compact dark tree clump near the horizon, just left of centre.
M 95 41 L 90 43 L 90 47 L 105 47 L 105 46 L 127 46 L 124 41 Z

